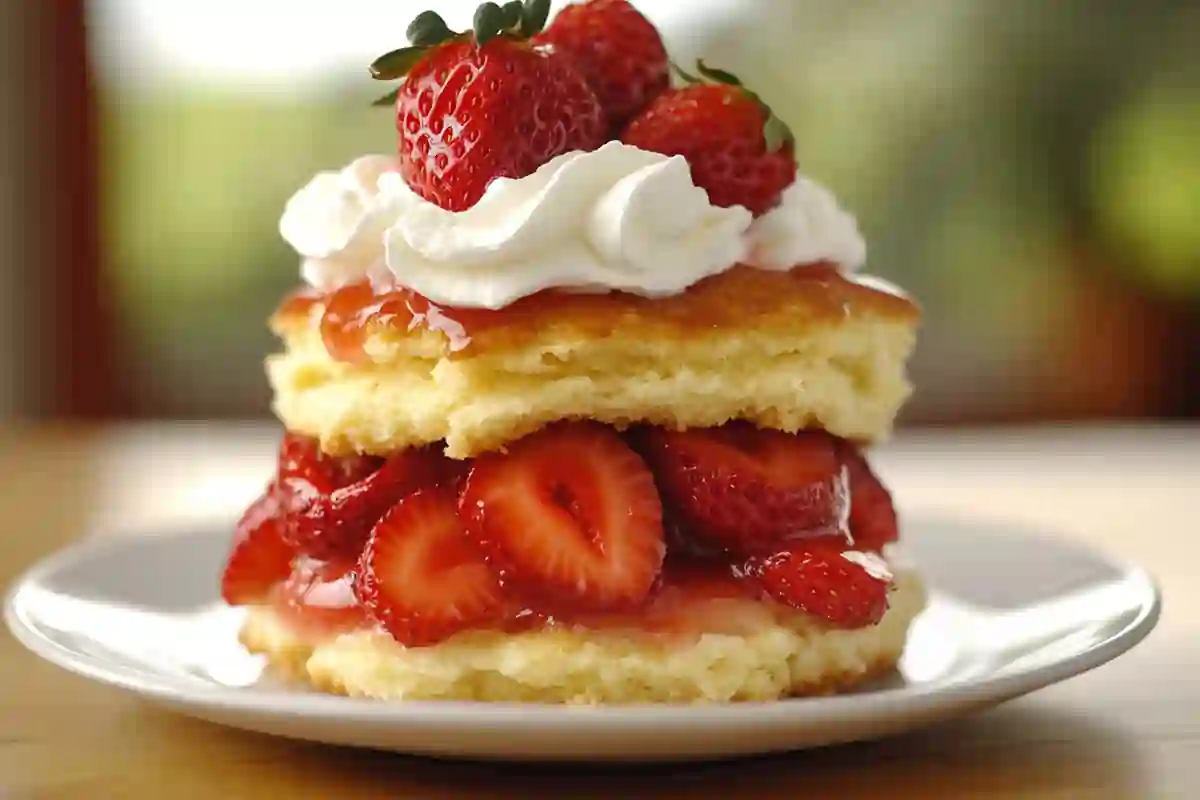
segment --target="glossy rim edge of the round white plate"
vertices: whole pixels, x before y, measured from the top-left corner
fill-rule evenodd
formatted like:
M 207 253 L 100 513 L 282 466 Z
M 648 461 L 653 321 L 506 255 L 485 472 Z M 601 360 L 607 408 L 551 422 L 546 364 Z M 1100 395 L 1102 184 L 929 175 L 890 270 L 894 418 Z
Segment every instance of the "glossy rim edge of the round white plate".
M 962 515 L 936 515 L 938 521 L 972 524 Z M 978 521 L 974 521 L 978 524 Z M 739 728 L 748 723 L 787 727 L 800 718 L 820 717 L 850 721 L 859 716 L 908 711 L 934 712 L 940 709 L 994 705 L 1052 684 L 1084 674 L 1129 651 L 1141 643 L 1162 616 L 1163 593 L 1159 583 L 1145 569 L 1111 558 L 1100 548 L 1075 540 L 1068 543 L 1087 552 L 1121 575 L 1121 579 L 1140 584 L 1144 602 L 1138 614 L 1120 630 L 1082 651 L 1075 651 L 1044 664 L 1021 667 L 1007 673 L 979 678 L 960 678 L 928 686 L 896 686 L 866 693 L 827 697 L 797 697 L 779 700 L 751 700 L 720 704 L 619 704 L 564 705 L 485 700 L 404 700 L 382 702 L 322 692 L 236 687 L 215 684 L 182 685 L 152 674 L 131 674 L 110 662 L 64 646 L 26 622 L 22 613 L 22 595 L 48 575 L 89 557 L 137 546 L 152 539 L 215 536 L 216 521 L 190 524 L 164 524 L 155 533 L 94 530 L 44 555 L 18 573 L 4 595 L 4 619 L 8 631 L 24 648 L 44 661 L 82 678 L 113 686 L 162 704 L 188 709 L 220 709 L 226 712 L 256 714 L 272 720 L 298 715 L 316 721 L 347 721 L 358 724 L 450 726 L 476 724 L 480 715 L 494 724 L 518 726 L 532 732 L 586 727 L 592 732 L 620 729 L 631 723 L 653 723 L 658 729 L 703 724 L 708 729 Z M 1016 525 L 1015 522 L 989 521 L 988 524 Z M 209 525 L 214 525 L 210 529 Z M 1052 537 L 1052 536 L 1050 536 Z M 1052 537 L 1063 541 L 1063 537 Z M 936 593 L 936 587 L 930 587 Z

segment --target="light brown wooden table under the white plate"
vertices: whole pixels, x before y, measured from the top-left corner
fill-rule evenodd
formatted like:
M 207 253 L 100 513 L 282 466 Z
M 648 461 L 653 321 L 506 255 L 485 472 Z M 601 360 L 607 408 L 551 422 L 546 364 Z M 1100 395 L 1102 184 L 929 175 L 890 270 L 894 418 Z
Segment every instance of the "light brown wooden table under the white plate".
M 0 428 L 0 584 L 85 529 L 228 515 L 269 427 Z M 452 764 L 228 730 L 41 662 L 0 633 L 0 798 L 1200 798 L 1200 428 L 917 432 L 878 453 L 902 509 L 1033 523 L 1140 563 L 1139 648 L 970 720 L 732 764 Z

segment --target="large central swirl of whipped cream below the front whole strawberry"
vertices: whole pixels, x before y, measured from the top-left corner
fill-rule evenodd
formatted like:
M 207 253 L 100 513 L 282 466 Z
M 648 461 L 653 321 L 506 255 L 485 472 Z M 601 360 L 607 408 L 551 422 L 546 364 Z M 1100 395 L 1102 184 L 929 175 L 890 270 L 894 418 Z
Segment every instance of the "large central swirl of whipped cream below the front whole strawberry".
M 388 269 L 458 306 L 550 288 L 662 297 L 742 259 L 750 218 L 712 205 L 683 157 L 610 142 L 497 179 L 466 211 L 414 206 L 388 231 Z

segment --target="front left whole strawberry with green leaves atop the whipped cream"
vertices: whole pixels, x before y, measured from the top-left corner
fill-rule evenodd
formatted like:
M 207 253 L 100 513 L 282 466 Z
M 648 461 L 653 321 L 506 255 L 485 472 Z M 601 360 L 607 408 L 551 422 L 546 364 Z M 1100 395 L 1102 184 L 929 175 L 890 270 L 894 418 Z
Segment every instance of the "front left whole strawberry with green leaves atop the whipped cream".
M 550 0 L 485 2 L 474 29 L 455 32 L 433 12 L 409 25 L 412 47 L 371 65 L 403 78 L 378 103 L 396 103 L 400 172 L 443 209 L 473 206 L 497 178 L 523 178 L 569 150 L 604 142 L 595 94 L 570 59 L 530 42 Z

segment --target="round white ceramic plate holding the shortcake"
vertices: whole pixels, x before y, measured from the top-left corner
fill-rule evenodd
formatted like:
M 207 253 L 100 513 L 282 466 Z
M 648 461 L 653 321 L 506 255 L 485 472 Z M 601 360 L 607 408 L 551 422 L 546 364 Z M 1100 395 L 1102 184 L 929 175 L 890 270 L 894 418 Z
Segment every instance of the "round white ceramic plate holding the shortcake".
M 1020 529 L 908 518 L 932 588 L 898 674 L 853 694 L 730 706 L 376 703 L 272 685 L 217 599 L 228 529 L 92 539 L 14 587 L 5 618 L 32 651 L 152 703 L 263 733 L 406 753 L 667 760 L 899 733 L 1097 667 L 1158 619 L 1151 578 Z

